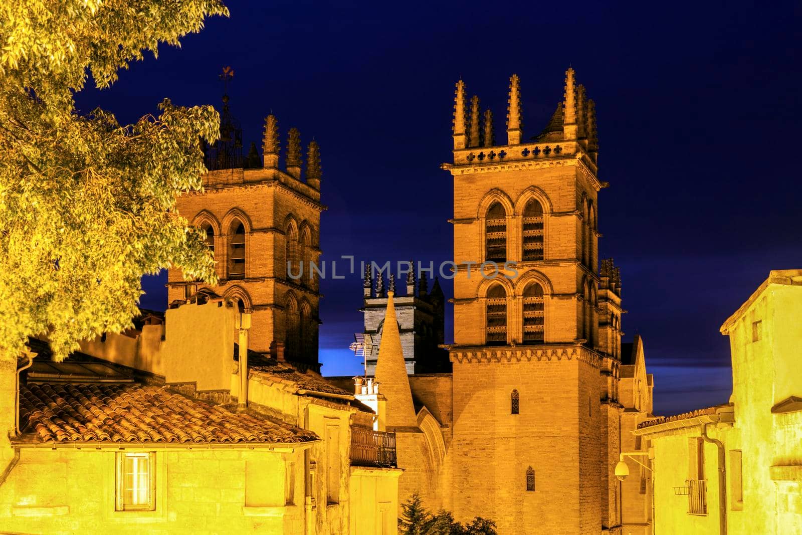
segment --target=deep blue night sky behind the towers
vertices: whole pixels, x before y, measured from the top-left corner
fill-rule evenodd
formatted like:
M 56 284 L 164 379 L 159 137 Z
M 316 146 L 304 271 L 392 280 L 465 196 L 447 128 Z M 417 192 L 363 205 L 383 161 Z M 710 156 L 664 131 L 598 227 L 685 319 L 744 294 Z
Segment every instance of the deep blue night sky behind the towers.
M 596 100 L 602 257 L 622 269 L 626 340 L 641 334 L 655 411 L 727 401 L 724 319 L 772 269 L 802 267 L 798 2 L 227 2 L 181 49 L 78 96 L 132 122 L 174 103 L 231 107 L 246 146 L 273 111 L 321 146 L 323 259 L 452 258 L 451 148 L 460 76 L 496 116 L 520 75 L 526 135 L 561 99 L 565 68 Z M 143 306 L 164 308 L 166 276 Z M 451 286 L 444 284 L 447 297 Z M 359 370 L 358 276 L 325 280 L 326 375 Z M 451 311 L 447 341 L 451 337 Z

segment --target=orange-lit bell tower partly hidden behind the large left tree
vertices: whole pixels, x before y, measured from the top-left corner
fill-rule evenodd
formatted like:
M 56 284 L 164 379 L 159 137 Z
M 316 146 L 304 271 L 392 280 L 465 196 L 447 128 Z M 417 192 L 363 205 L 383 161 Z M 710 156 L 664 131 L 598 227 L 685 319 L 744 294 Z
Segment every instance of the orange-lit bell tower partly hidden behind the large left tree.
M 267 116 L 263 160 L 243 160 L 236 152 L 241 130 L 224 98 L 221 141 L 209 148 L 204 191 L 178 200 L 178 212 L 203 229 L 217 260 L 217 294 L 236 298 L 251 314 L 253 351 L 284 352 L 286 359 L 319 369 L 318 276 L 310 263 L 320 255 L 321 166 L 318 144 L 311 141 L 302 176 L 298 129 L 290 128 L 280 168 L 278 124 Z M 241 143 L 241 141 L 240 141 Z M 255 153 L 255 147 L 252 152 Z M 254 166 L 254 161 L 255 166 Z M 244 167 L 246 165 L 252 167 Z M 168 271 L 168 302 L 183 302 L 205 287 Z

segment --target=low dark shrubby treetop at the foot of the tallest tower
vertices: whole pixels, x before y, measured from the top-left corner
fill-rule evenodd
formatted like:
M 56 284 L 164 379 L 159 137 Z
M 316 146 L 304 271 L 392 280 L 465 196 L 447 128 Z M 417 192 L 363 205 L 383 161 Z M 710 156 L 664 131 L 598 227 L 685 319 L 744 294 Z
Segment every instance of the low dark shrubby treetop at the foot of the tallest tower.
M 486 518 L 475 517 L 470 524 L 463 525 L 445 509 L 431 515 L 423 507 L 418 492 L 414 492 L 401 509 L 399 533 L 402 535 L 496 535 L 496 522 Z

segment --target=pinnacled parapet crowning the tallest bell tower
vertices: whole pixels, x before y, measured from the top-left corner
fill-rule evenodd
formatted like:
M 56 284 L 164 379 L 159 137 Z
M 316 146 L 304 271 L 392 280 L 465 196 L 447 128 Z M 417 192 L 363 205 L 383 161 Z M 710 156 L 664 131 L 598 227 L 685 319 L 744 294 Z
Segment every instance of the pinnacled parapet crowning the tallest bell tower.
M 463 80 L 456 83 L 452 126 L 454 160 L 444 166 L 449 169 L 559 165 L 557 162 L 575 160 L 594 178 L 597 176 L 596 106 L 585 87 L 577 86 L 572 68 L 565 71 L 563 99 L 557 103 L 549 124 L 536 136 L 524 135 L 518 75 L 512 75 L 509 81 L 506 143 L 496 143 L 492 110 L 481 111 L 478 95 L 468 99 Z M 606 183 L 598 185 L 604 187 Z

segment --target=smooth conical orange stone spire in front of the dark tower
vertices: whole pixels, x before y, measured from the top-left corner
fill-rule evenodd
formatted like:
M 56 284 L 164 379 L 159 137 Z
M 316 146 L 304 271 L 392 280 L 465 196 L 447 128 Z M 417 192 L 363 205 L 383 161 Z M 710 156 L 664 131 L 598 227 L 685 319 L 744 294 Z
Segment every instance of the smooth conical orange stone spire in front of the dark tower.
M 393 431 L 394 428 L 418 427 L 407 366 L 403 359 L 393 294 L 393 291 L 387 292 L 387 314 L 384 316 L 375 373 L 375 380 L 382 384 L 382 394 L 387 398 L 387 431 Z

